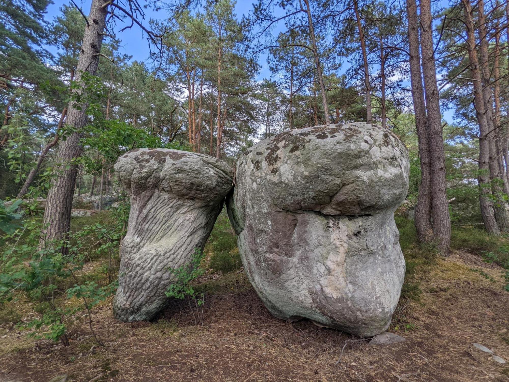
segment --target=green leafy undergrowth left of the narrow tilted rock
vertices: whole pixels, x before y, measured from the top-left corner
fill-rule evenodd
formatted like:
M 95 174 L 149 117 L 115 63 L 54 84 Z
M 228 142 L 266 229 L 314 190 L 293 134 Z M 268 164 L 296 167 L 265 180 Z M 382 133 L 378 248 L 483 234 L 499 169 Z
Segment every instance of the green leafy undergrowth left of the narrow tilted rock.
M 25 202 L 25 204 L 27 204 Z M 67 330 L 115 293 L 120 241 L 129 207 L 72 220 L 68 240 L 40 246 L 41 211 L 24 206 L 16 229 L 1 237 L 0 324 L 17 323 L 36 338 L 68 345 Z

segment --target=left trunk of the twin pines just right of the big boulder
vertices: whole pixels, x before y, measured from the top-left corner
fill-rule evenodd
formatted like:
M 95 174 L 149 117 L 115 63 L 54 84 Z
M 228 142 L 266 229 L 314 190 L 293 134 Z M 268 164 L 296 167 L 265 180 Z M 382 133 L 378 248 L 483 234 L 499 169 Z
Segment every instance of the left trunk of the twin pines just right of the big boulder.
M 421 169 L 419 195 L 417 196 L 417 205 L 415 206 L 415 228 L 417 230 L 419 242 L 429 243 L 433 240 L 433 227 L 431 225 L 430 148 L 428 132 L 426 130 L 427 115 L 424 101 L 424 89 L 422 87 L 422 76 L 420 72 L 419 21 L 417 18 L 417 5 L 415 0 L 407 0 L 407 14 L 410 50 L 410 82 Z

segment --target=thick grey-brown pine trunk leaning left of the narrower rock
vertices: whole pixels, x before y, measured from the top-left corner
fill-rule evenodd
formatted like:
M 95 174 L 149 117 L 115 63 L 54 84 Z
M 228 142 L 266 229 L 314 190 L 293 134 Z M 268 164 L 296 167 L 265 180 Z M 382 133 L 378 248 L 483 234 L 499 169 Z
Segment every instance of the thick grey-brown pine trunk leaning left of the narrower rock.
M 81 74 L 89 72 L 94 75 L 99 63 L 99 53 L 102 44 L 105 19 L 108 14 L 108 0 L 93 0 L 88 17 L 89 25 L 85 26 L 83 43 L 76 67 L 75 80 L 80 83 Z M 74 90 L 81 93 L 83 90 Z M 67 124 L 74 127 L 73 132 L 65 141 L 61 142 L 56 158 L 56 177 L 52 181 L 46 200 L 43 229 L 40 248 L 46 247 L 46 241 L 60 240 L 69 232 L 71 223 L 71 208 L 76 184 L 76 165 L 73 160 L 81 155 L 82 128 L 87 123 L 87 105 L 76 101 L 69 102 Z M 64 248 L 66 253 L 67 249 Z

